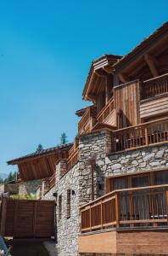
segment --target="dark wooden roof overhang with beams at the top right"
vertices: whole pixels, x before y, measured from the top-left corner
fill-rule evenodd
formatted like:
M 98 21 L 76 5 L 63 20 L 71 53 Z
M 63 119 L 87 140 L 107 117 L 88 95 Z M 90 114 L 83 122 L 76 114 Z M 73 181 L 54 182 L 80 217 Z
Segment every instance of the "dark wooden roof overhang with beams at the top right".
M 141 73 L 142 68 L 148 64 L 149 61 L 154 62 L 154 57 L 159 55 L 168 45 L 168 22 L 160 26 L 148 38 L 145 38 L 141 44 L 132 49 L 130 53 L 125 55 L 116 62 L 115 73 L 118 76 L 125 77 L 124 82 L 135 78 L 135 74 Z

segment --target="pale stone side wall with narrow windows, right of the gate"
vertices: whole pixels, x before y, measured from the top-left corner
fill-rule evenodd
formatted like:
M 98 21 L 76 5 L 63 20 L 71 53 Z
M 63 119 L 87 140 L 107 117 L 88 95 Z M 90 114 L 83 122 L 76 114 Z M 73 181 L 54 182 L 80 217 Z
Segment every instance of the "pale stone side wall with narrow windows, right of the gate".
M 78 255 L 78 234 L 79 234 L 79 164 L 76 164 L 69 172 L 60 176 L 56 166 L 56 184 L 42 196 L 43 200 L 56 200 L 57 215 L 57 250 L 59 255 Z M 70 218 L 67 218 L 67 189 L 70 189 Z M 57 197 L 53 193 L 57 193 Z M 59 195 L 62 195 L 61 218 L 59 216 Z

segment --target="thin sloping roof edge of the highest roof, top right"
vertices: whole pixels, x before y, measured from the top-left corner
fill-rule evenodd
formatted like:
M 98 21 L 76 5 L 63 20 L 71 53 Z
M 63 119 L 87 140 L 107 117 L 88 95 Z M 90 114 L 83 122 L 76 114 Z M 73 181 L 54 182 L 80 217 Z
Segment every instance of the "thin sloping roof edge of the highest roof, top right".
M 136 55 L 139 51 L 145 48 L 154 38 L 158 38 L 160 34 L 168 30 L 168 21 L 166 21 L 162 26 L 156 29 L 152 34 L 149 35 L 148 38 L 143 39 L 143 41 L 138 44 L 131 52 L 127 55 L 124 55 L 119 61 L 114 64 L 115 69 L 122 66 L 126 61 L 132 58 L 133 55 Z

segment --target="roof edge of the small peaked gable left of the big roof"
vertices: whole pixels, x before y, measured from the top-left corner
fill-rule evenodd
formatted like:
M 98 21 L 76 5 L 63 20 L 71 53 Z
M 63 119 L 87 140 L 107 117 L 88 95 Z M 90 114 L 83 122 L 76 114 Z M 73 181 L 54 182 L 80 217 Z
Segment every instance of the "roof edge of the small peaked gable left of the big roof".
M 85 87 L 83 89 L 83 92 L 82 92 L 82 96 L 84 98 L 86 92 L 87 92 L 87 87 L 88 87 L 88 84 L 91 80 L 91 77 L 92 77 L 92 72 L 94 70 L 98 70 L 99 68 L 101 67 L 105 67 L 107 65 L 110 65 L 113 66 L 114 63 L 120 59 L 122 56 L 121 55 L 108 55 L 108 54 L 105 54 L 101 57 L 99 57 L 98 59 L 92 61 L 92 64 L 91 64 L 91 67 L 89 69 L 89 73 L 87 75 L 87 81 L 85 83 Z

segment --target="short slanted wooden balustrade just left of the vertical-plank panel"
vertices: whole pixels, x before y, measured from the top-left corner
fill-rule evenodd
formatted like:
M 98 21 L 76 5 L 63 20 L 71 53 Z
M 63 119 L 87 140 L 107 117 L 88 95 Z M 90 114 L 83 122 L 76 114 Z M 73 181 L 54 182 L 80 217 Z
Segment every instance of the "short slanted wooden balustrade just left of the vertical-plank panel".
M 104 119 L 109 116 L 115 109 L 114 97 L 112 97 L 109 102 L 104 106 L 104 108 L 97 114 L 96 119 L 99 123 L 103 123 Z

